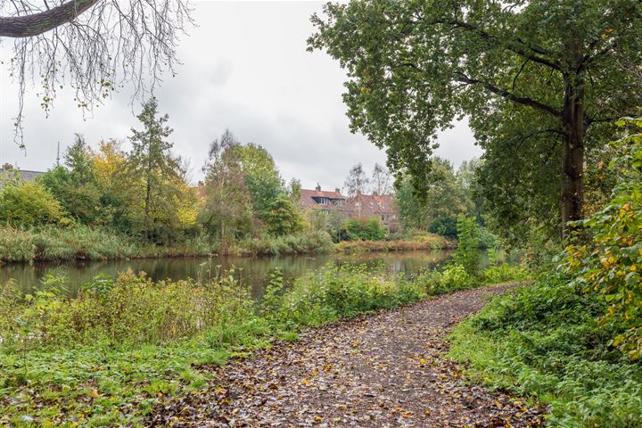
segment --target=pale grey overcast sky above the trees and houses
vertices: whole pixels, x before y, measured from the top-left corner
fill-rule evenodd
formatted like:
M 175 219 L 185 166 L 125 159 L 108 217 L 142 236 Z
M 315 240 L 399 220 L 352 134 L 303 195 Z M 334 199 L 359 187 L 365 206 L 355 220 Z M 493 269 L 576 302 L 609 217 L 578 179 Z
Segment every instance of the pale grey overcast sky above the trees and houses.
M 193 180 L 211 140 L 230 128 L 242 142 L 261 144 L 275 158 L 285 180 L 298 177 L 304 187 L 342 187 L 350 167 L 369 171 L 385 153 L 365 136 L 352 135 L 342 104 L 345 73 L 323 52 L 306 52 L 313 32 L 309 16 L 317 2 L 194 2 L 199 27 L 179 49 L 183 65 L 157 90 L 161 112 L 169 113 L 175 152 L 191 159 Z M 6 49 L 6 47 L 0 47 Z M 5 51 L 6 53 L 6 51 Z M 36 91 L 26 95 L 24 142 L 13 141 L 16 86 L 0 74 L 0 164 L 45 170 L 79 132 L 89 144 L 101 138 L 127 141 L 138 127 L 126 93 L 114 95 L 83 119 L 73 95 L 62 91 L 48 119 Z M 138 102 L 136 102 L 138 103 Z M 136 110 L 139 110 L 136 105 Z M 438 154 L 457 166 L 481 154 L 464 123 L 440 136 Z M 128 145 L 126 144 L 127 148 Z

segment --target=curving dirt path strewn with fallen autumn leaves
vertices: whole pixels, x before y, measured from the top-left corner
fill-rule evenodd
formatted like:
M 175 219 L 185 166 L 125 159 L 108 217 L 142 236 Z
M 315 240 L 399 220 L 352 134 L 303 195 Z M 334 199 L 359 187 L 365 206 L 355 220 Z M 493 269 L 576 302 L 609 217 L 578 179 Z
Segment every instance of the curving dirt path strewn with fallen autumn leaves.
M 317 328 L 300 342 L 213 368 L 206 391 L 174 399 L 150 424 L 189 427 L 523 427 L 538 409 L 466 386 L 444 335 L 506 286 L 457 292 Z

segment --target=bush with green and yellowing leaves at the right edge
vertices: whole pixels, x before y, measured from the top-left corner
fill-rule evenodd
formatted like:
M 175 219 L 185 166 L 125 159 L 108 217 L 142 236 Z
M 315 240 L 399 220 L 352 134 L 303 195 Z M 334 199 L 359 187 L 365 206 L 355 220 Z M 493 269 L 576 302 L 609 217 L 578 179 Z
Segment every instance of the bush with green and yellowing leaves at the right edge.
M 642 128 L 642 119 L 620 125 Z M 603 210 L 578 222 L 588 243 L 569 245 L 564 268 L 572 284 L 608 308 L 600 318 L 618 332 L 613 346 L 632 359 L 642 357 L 642 134 L 616 143 L 621 155 L 610 168 L 620 174 L 611 200 Z

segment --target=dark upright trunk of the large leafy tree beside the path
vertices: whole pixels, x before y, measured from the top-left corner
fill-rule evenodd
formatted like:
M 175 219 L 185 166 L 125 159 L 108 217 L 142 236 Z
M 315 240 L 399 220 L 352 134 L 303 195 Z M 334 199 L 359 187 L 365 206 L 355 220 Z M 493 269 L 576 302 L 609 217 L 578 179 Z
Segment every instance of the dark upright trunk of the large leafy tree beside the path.
M 573 81 L 574 80 L 574 81 Z M 564 160 L 562 164 L 562 237 L 583 218 L 584 205 L 584 85 L 579 77 L 564 78 Z

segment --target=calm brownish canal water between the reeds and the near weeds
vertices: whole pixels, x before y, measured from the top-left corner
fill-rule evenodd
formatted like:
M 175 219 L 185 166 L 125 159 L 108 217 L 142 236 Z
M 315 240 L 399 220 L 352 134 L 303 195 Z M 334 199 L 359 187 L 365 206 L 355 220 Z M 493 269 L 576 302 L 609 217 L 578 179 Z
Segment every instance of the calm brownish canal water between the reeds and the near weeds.
M 327 264 L 383 263 L 389 272 L 410 276 L 423 268 L 435 268 L 449 259 L 452 251 L 371 252 L 358 255 L 321 254 L 315 256 L 279 257 L 214 257 L 174 259 L 129 259 L 63 263 L 9 264 L 0 266 L 0 284 L 13 281 L 22 292 L 42 289 L 42 279 L 48 274 L 64 277 L 64 288 L 70 295 L 78 292 L 95 276 L 115 278 L 129 269 L 145 272 L 154 281 L 163 279 L 208 279 L 217 272 L 235 269 L 235 276 L 250 284 L 252 293 L 260 295 L 271 274 L 279 268 L 287 281 L 305 276 Z

